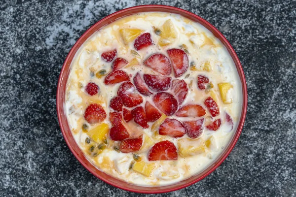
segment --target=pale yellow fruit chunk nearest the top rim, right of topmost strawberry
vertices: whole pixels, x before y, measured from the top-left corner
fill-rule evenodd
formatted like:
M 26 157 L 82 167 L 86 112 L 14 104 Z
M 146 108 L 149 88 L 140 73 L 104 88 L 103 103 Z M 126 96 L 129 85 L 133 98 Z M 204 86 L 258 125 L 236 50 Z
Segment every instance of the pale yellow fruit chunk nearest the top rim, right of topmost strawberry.
M 162 25 L 162 32 L 160 33 L 160 39 L 158 41 L 159 46 L 167 46 L 175 41 L 177 38 L 177 32 L 174 28 L 171 19 L 164 22 Z

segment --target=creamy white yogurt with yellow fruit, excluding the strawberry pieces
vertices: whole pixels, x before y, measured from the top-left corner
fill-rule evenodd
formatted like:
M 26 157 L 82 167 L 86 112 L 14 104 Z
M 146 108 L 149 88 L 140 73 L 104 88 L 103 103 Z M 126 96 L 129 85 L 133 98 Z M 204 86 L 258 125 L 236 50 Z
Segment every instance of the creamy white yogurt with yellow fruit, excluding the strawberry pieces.
M 121 30 L 130 29 L 138 32 L 131 37 L 124 37 L 126 34 L 123 35 Z M 143 33 L 150 33 L 152 44 L 136 50 L 135 39 Z M 114 49 L 114 60 L 124 58 L 128 62 L 120 70 L 128 74 L 132 83 L 136 73 L 140 73 L 142 77 L 144 73 L 162 76 L 143 64 L 152 54 L 161 53 L 172 64 L 167 50 L 184 51 L 188 58 L 188 68 L 179 77 L 175 77 L 174 69 L 168 75 L 172 80 L 184 80 L 188 87 L 185 100 L 182 104 L 179 103 L 178 108 L 198 104 L 204 108 L 205 114 L 200 117 L 178 117 L 176 114 L 166 116 L 160 111 L 162 116 L 154 122 L 148 122 L 148 128 L 141 127 L 134 120 L 126 123 L 122 119 L 130 138 L 143 134 L 143 143 L 138 151 L 120 152 L 121 142 L 111 140 L 109 135 L 113 127 L 109 114 L 113 112 L 110 100 L 117 96 L 117 90 L 123 82 L 105 84 L 104 80 L 112 71 L 113 62 L 106 62 L 101 57 L 102 53 Z M 208 83 L 204 83 L 205 89 L 198 87 L 198 75 L 209 79 Z M 99 87 L 98 94 L 87 94 L 85 88 L 90 82 Z M 143 98 L 143 102 L 137 107 L 142 106 L 145 109 L 147 101 L 155 107 L 153 97 L 158 92 L 148 90 L 153 94 L 143 96 L 136 89 L 136 93 Z M 175 96 L 171 87 L 163 92 Z M 215 117 L 205 105 L 205 100 L 209 97 L 216 101 L 219 108 L 219 115 Z M 145 12 L 123 17 L 89 37 L 72 61 L 65 98 L 64 108 L 70 129 L 86 158 L 99 170 L 141 186 L 173 184 L 200 173 L 213 164 L 232 139 L 242 109 L 241 81 L 234 62 L 221 41 L 199 23 L 165 12 Z M 100 104 L 107 114 L 99 123 L 90 124 L 84 118 L 87 106 L 92 103 Z M 131 111 L 135 107 L 124 108 Z M 181 137 L 160 135 L 159 126 L 166 118 L 176 119 L 181 123 L 202 119 L 201 134 L 196 138 L 190 138 L 187 133 Z M 221 125 L 216 131 L 207 128 L 218 119 L 221 120 Z M 98 133 L 103 134 L 98 136 Z M 153 145 L 164 140 L 175 145 L 178 159 L 149 161 L 148 154 Z

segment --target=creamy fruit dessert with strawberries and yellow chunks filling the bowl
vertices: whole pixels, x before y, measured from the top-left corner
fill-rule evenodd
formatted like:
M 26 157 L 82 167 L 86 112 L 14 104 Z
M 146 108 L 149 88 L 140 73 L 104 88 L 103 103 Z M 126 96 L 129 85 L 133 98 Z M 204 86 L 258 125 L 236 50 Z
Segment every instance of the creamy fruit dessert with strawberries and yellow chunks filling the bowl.
M 172 184 L 213 164 L 241 107 L 241 82 L 220 40 L 164 12 L 123 17 L 88 38 L 65 95 L 86 158 L 142 186 Z

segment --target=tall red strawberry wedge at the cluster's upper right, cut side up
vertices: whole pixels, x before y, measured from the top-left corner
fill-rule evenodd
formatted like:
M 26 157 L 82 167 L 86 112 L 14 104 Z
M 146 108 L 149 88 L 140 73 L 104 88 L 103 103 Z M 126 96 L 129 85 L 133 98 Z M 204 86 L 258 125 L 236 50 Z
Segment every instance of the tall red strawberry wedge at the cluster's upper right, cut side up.
M 186 53 L 181 49 L 169 49 L 167 50 L 175 77 L 180 77 L 184 72 L 186 72 L 189 63 Z

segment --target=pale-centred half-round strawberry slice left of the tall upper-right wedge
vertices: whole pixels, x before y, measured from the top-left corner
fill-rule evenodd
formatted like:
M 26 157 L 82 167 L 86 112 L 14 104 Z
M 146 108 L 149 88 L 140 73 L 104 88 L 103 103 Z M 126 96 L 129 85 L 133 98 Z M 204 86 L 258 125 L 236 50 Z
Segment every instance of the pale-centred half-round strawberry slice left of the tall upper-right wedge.
M 163 75 L 170 75 L 172 72 L 170 60 L 161 53 L 156 53 L 148 57 L 144 61 L 144 65 Z

